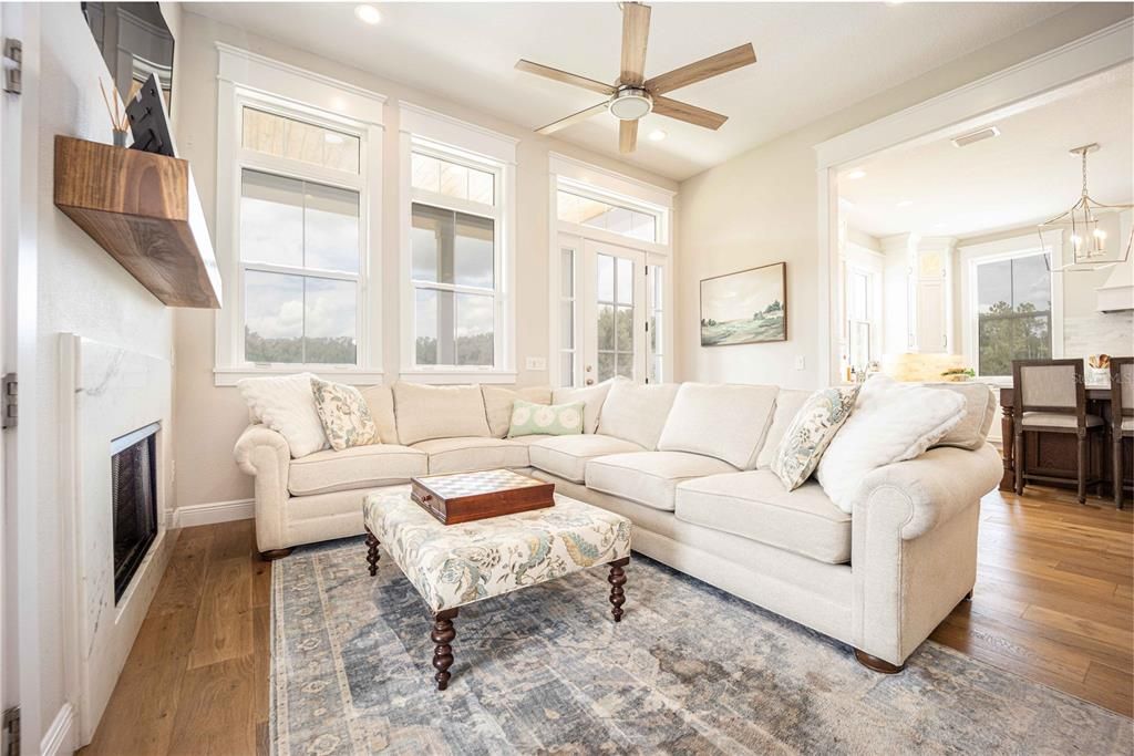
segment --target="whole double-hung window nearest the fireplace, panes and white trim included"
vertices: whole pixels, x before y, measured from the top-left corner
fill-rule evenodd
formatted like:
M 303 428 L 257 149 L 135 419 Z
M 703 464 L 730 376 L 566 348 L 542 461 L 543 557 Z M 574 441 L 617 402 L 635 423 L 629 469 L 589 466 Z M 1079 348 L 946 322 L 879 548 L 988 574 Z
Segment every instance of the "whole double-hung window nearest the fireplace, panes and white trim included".
M 255 58 L 227 67 L 237 54 L 221 50 L 218 383 L 297 369 L 376 381 L 380 127 L 338 112 L 348 91 L 261 70 Z M 232 70 L 263 80 L 226 80 Z M 266 83 L 285 91 L 268 94 Z M 352 96 L 380 113 L 378 95 Z

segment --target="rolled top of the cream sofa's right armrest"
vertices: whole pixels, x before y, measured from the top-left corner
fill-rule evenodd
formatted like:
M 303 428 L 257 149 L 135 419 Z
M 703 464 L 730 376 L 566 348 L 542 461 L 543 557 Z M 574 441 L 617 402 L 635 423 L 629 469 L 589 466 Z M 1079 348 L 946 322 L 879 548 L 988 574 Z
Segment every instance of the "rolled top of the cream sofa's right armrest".
M 996 489 L 1002 475 L 1004 462 L 991 444 L 976 451 L 931 449 L 868 475 L 855 499 L 853 519 L 868 519 L 871 507 L 886 506 L 883 502 L 900 502 L 904 511 L 897 525 L 902 538 L 909 541 L 971 507 Z

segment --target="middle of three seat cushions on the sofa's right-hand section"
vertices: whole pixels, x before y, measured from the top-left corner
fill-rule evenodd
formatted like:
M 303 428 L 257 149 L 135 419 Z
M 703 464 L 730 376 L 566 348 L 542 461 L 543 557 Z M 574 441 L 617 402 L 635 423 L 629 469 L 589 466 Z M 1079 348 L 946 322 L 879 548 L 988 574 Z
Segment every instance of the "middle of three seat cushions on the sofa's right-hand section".
M 685 451 L 638 451 L 589 461 L 586 487 L 671 512 L 674 494 L 682 481 L 735 472 L 735 467 L 714 457 Z

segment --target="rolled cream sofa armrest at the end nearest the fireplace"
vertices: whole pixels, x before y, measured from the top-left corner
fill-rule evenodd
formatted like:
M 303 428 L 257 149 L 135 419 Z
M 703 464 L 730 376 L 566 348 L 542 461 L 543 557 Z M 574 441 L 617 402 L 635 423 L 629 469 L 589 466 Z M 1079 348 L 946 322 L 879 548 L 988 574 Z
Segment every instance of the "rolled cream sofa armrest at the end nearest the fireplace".
M 287 440 L 264 425 L 249 425 L 232 449 L 239 468 L 255 477 L 256 547 L 288 547 L 287 500 L 291 450 Z

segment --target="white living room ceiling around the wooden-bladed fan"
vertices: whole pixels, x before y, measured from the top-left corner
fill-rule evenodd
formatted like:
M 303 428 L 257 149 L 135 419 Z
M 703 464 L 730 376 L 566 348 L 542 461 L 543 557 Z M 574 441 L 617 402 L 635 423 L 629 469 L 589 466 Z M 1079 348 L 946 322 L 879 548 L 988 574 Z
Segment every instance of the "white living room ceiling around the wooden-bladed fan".
M 536 128 L 596 104 L 593 93 L 514 69 L 528 58 L 595 79 L 618 75 L 616 2 L 188 3 L 192 12 Z M 1069 3 L 657 2 L 646 75 L 744 42 L 759 61 L 669 94 L 730 117 L 710 131 L 649 116 L 628 160 L 682 180 L 758 144 L 920 76 L 1058 14 Z M 609 114 L 557 136 L 618 156 Z

